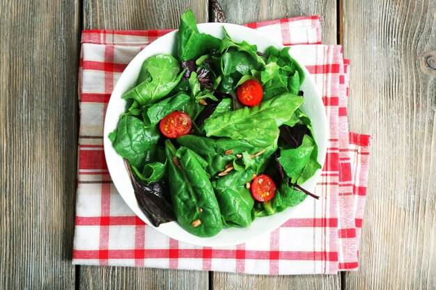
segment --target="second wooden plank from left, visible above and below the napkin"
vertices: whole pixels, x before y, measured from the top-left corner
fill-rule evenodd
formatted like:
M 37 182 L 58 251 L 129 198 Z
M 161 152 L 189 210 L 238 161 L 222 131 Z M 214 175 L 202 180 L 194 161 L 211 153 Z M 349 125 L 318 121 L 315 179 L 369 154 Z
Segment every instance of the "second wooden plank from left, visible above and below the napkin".
M 208 1 L 84 1 L 84 29 L 177 29 L 193 9 L 208 21 Z M 80 267 L 80 289 L 208 289 L 208 272 L 153 268 Z

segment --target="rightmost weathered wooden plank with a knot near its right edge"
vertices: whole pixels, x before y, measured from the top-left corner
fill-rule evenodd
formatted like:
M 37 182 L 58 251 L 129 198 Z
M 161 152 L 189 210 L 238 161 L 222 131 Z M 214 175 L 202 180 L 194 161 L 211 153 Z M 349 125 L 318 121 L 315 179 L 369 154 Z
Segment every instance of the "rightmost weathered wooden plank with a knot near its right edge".
M 373 135 L 345 289 L 436 289 L 436 2 L 343 0 L 350 129 Z

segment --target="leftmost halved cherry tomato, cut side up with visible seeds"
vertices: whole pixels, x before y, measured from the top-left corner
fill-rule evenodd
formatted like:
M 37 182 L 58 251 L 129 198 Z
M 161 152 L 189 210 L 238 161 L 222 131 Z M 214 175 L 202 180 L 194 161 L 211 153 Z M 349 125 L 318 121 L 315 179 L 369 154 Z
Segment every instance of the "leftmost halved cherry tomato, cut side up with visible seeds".
M 168 138 L 178 138 L 189 134 L 192 121 L 189 115 L 183 112 L 173 112 L 166 115 L 159 124 L 159 129 Z

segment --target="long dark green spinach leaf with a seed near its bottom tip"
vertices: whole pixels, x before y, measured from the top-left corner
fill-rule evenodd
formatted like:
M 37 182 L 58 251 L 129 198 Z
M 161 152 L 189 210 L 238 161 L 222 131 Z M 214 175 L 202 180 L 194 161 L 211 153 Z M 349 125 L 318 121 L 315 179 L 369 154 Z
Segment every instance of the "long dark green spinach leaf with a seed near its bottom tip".
M 176 148 L 165 141 L 166 157 L 176 156 Z M 196 236 L 215 236 L 223 225 L 219 205 L 208 175 L 191 150 L 180 158 L 179 170 L 169 162 L 169 184 L 176 218 L 181 227 Z

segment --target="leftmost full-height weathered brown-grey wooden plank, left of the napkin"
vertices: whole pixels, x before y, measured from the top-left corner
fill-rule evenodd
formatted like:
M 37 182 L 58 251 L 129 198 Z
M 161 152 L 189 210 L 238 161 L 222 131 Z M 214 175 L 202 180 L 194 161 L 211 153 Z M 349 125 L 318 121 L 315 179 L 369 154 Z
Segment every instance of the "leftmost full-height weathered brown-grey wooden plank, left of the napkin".
M 0 289 L 74 289 L 78 2 L 0 19 Z

